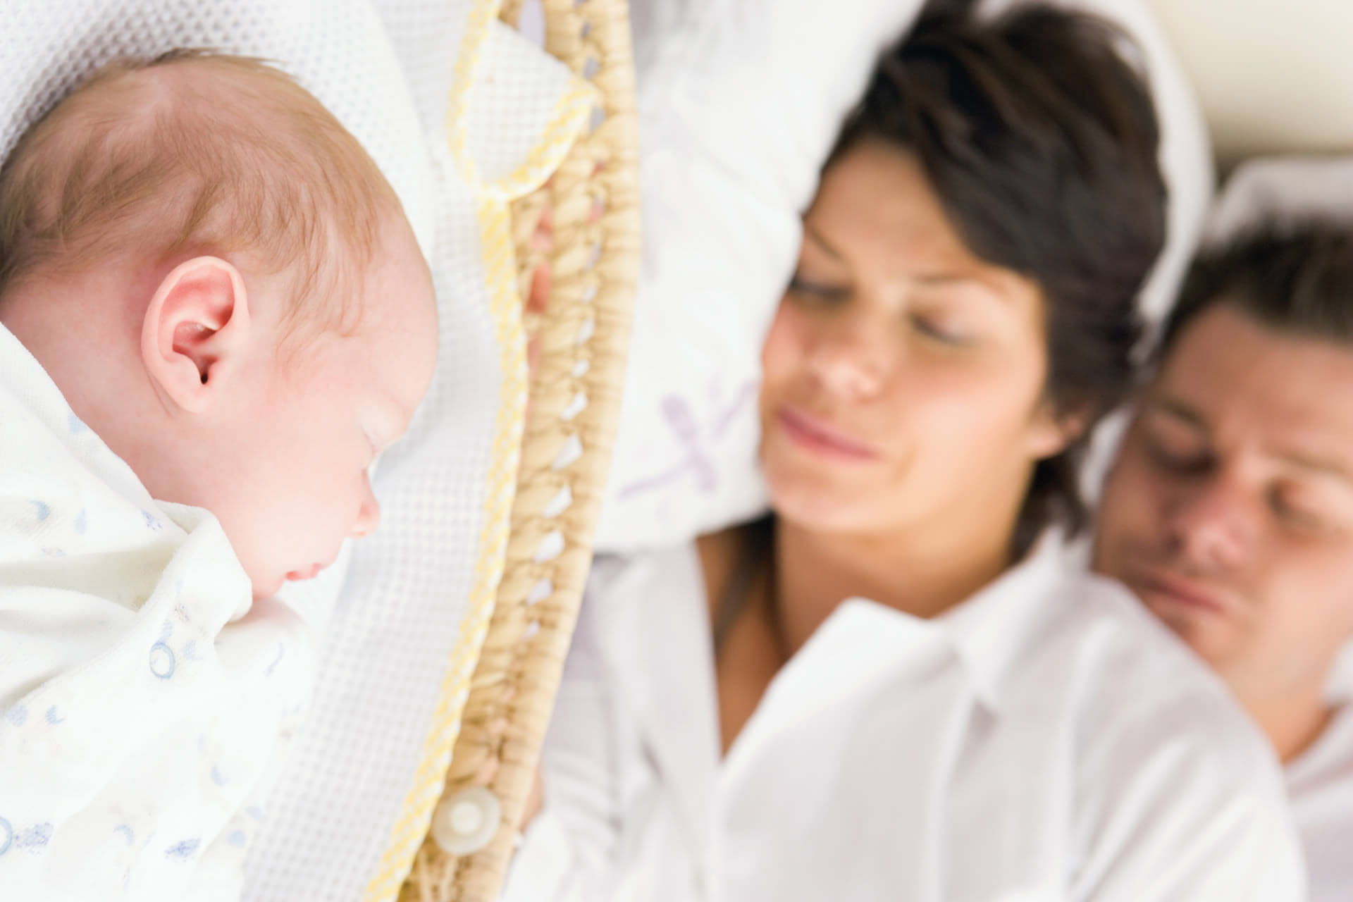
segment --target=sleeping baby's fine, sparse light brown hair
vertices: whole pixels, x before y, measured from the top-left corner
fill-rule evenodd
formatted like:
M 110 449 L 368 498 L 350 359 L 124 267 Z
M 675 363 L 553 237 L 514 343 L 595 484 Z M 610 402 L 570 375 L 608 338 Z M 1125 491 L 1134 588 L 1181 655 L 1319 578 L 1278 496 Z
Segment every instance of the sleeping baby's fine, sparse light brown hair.
M 360 270 L 399 201 L 325 107 L 261 60 L 179 50 L 111 62 L 0 166 L 0 298 L 42 272 L 137 249 L 244 253 L 295 266 L 296 318 L 342 321 L 333 280 Z M 323 311 L 307 299 L 322 296 Z

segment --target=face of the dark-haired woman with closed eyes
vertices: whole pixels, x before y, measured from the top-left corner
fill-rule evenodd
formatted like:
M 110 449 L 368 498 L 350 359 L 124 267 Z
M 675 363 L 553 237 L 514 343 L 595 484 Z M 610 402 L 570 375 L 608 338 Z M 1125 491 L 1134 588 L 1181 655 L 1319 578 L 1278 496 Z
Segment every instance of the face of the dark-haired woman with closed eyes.
M 773 506 L 815 529 L 989 518 L 1070 438 L 1043 400 L 1038 287 L 974 257 L 882 143 L 827 170 L 762 365 Z

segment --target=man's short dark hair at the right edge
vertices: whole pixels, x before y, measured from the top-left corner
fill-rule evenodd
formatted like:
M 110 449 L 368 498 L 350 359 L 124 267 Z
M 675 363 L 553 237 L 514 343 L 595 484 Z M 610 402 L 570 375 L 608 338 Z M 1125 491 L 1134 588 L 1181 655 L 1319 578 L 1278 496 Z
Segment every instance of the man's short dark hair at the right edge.
M 1265 223 L 1193 261 L 1157 358 L 1203 312 L 1229 304 L 1279 331 L 1353 345 L 1353 223 Z

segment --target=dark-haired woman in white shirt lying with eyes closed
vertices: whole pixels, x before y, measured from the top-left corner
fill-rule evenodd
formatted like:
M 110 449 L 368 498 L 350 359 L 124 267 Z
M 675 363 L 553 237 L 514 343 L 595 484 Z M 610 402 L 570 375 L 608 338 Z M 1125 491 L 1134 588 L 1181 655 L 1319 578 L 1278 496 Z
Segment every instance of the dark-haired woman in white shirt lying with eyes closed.
M 1262 740 L 1061 563 L 1164 233 L 1119 41 L 885 55 L 763 350 L 773 517 L 598 561 L 507 898 L 1300 898 Z

